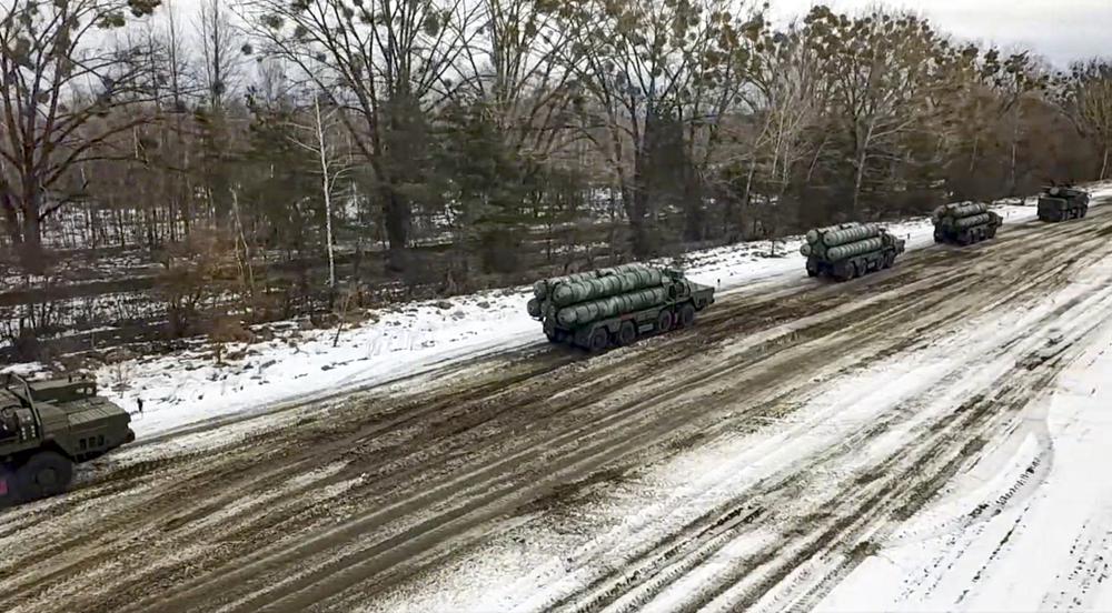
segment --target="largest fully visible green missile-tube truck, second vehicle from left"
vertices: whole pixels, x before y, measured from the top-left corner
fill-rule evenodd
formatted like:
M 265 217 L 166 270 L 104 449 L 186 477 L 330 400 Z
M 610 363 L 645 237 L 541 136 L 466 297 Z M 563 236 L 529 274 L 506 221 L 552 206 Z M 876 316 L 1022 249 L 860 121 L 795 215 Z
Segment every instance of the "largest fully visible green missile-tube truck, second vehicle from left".
M 638 336 L 686 328 L 714 302 L 714 288 L 683 272 L 626 264 L 537 281 L 529 315 L 550 342 L 589 351 L 627 345 Z

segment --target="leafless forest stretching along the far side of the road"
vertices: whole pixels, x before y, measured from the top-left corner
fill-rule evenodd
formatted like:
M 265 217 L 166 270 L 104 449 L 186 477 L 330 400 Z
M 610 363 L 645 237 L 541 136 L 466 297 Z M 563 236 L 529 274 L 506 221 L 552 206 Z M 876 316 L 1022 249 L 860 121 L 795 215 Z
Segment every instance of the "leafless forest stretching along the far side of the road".
M 7 351 L 236 336 L 1112 174 L 1112 61 L 1059 70 L 880 8 L 767 12 L 11 0 Z

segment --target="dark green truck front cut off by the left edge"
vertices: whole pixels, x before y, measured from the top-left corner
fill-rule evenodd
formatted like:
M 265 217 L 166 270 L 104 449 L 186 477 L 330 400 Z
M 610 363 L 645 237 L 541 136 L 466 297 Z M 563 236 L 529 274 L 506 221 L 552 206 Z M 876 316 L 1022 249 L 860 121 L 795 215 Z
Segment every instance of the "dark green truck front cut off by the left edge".
M 75 464 L 135 441 L 130 423 L 127 411 L 97 395 L 92 380 L 4 375 L 0 508 L 64 492 Z

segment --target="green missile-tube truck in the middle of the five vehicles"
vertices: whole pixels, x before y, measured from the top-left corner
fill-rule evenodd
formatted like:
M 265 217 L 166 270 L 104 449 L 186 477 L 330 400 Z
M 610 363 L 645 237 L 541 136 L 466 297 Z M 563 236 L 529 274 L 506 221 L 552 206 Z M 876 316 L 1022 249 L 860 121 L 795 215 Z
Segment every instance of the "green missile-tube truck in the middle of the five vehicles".
M 848 281 L 891 267 L 903 253 L 904 241 L 875 223 L 842 223 L 807 232 L 800 252 L 807 258 L 807 274 Z

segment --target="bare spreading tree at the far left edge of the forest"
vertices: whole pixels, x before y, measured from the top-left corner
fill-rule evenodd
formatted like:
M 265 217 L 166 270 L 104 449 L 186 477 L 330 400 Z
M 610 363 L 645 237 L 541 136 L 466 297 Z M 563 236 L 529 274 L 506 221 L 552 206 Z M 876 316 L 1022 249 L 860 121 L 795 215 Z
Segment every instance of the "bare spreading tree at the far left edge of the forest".
M 143 67 L 102 29 L 150 14 L 157 0 L 14 0 L 0 9 L 0 210 L 11 240 L 30 255 L 44 219 L 81 194 L 61 189 L 87 161 L 130 159 L 112 139 L 149 121 Z M 141 53 L 140 53 L 141 56 Z M 130 112 L 118 112 L 121 107 Z

